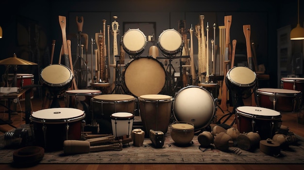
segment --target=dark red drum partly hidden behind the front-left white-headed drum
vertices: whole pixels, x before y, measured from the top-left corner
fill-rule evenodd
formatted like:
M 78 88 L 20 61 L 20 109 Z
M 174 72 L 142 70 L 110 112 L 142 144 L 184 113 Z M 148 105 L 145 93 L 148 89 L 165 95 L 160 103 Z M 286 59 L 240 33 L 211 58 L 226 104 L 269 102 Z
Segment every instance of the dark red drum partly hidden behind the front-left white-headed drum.
M 79 89 L 66 91 L 66 107 L 78 108 L 85 110 L 85 124 L 91 124 L 93 116 L 91 111 L 91 98 L 96 95 L 101 95 L 100 90 Z

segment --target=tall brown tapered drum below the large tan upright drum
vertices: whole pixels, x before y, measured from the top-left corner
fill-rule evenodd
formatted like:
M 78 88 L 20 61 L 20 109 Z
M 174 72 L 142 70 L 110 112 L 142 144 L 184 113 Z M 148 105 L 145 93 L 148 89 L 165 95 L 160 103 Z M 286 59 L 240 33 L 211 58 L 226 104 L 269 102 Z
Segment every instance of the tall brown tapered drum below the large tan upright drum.
M 146 94 L 138 97 L 139 113 L 146 134 L 150 129 L 168 131 L 171 118 L 172 97 L 164 94 Z

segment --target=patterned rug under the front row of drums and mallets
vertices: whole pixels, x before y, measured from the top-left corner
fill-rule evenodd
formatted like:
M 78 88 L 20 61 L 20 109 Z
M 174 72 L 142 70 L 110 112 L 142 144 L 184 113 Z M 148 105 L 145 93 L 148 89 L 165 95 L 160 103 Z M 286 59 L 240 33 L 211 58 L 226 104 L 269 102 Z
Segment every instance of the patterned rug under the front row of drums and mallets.
M 123 145 L 121 151 L 91 152 L 78 155 L 64 155 L 63 151 L 46 152 L 40 164 L 304 164 L 304 138 L 297 143 L 281 149 L 278 157 L 266 155 L 259 149 L 252 152 L 230 147 L 222 152 L 214 147 L 201 148 L 195 135 L 189 145 L 181 147 L 165 134 L 162 148 L 155 148 L 150 139 L 143 146 L 136 147 L 133 142 Z M 13 163 L 16 149 L 0 146 L 0 163 Z

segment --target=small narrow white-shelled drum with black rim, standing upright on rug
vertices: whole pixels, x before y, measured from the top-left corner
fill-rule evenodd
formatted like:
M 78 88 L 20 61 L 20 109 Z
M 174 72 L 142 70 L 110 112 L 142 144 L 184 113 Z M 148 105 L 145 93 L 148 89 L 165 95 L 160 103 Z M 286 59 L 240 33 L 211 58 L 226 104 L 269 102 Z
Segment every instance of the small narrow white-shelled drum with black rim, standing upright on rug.
M 134 114 L 117 112 L 111 115 L 112 131 L 116 140 L 131 138 Z

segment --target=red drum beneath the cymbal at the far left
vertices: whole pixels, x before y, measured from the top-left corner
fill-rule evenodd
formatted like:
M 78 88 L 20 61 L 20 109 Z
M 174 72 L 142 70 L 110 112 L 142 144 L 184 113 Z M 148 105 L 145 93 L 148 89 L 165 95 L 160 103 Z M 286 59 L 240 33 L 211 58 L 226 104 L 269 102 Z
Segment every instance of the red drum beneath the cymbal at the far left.
M 8 74 L 9 78 L 14 79 L 14 74 Z M 34 84 L 34 75 L 32 74 L 17 74 L 17 87 L 24 87 Z M 34 98 L 34 92 L 31 92 L 31 98 Z M 25 100 L 25 93 L 20 96 L 20 101 Z

